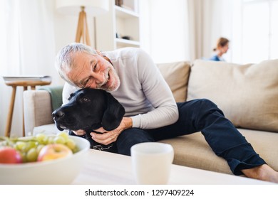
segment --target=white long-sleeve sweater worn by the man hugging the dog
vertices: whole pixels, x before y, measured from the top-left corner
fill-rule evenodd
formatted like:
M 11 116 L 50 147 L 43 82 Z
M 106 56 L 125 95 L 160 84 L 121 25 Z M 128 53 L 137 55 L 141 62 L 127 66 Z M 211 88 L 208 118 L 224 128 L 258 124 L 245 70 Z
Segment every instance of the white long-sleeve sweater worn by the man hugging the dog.
M 120 87 L 111 94 L 125 107 L 133 127 L 155 129 L 173 124 L 178 119 L 177 104 L 170 87 L 152 58 L 139 48 L 120 48 L 102 52 L 113 63 L 120 77 Z M 63 104 L 78 88 L 65 84 Z

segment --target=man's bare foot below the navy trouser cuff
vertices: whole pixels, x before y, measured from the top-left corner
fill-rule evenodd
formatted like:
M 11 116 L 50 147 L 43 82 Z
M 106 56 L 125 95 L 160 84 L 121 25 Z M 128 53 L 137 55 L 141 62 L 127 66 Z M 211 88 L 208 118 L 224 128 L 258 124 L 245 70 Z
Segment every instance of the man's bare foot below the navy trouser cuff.
M 248 178 L 278 183 L 278 172 L 274 171 L 267 164 L 263 164 L 254 168 L 242 169 L 242 173 L 244 173 L 244 175 Z

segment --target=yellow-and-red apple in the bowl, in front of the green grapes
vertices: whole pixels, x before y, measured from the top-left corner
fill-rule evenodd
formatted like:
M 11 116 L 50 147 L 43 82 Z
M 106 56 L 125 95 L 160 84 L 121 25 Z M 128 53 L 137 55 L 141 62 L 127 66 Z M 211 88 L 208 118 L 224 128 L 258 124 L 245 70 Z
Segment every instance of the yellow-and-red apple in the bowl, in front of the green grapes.
M 57 158 L 72 156 L 73 151 L 63 144 L 48 144 L 43 146 L 37 161 L 50 161 Z

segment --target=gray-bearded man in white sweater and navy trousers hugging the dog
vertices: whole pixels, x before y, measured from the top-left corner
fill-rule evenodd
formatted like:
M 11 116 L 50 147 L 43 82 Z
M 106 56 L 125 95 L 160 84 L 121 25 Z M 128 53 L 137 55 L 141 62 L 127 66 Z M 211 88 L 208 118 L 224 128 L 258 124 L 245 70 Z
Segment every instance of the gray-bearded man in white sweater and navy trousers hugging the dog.
M 152 58 L 139 48 L 99 52 L 81 43 L 63 47 L 56 68 L 66 80 L 63 103 L 84 87 L 110 92 L 125 107 L 125 117 L 112 131 L 91 133 L 101 144 L 116 141 L 118 153 L 130 155 L 134 144 L 201 131 L 212 150 L 225 158 L 232 173 L 278 183 L 278 172 L 259 157 L 251 144 L 207 99 L 176 103 Z M 75 131 L 76 135 L 85 134 Z

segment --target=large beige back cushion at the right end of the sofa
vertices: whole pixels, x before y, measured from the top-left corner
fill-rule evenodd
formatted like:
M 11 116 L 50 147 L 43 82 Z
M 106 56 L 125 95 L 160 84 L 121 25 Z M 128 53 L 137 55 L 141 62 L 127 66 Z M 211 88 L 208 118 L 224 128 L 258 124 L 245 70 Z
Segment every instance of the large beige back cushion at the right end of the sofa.
M 278 132 L 278 60 L 258 64 L 195 60 L 187 100 L 215 102 L 236 127 Z

